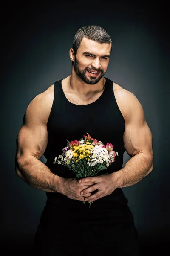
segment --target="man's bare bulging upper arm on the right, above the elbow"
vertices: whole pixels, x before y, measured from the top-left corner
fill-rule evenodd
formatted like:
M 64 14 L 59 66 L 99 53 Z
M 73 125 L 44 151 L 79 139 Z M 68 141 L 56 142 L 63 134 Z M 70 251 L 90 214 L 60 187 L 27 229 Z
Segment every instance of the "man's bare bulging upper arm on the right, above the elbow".
M 144 110 L 136 96 L 131 93 L 130 98 L 130 114 L 127 122 L 125 122 L 123 136 L 125 151 L 130 157 L 139 152 L 144 152 L 151 156 L 153 155 L 153 137 L 145 120 Z

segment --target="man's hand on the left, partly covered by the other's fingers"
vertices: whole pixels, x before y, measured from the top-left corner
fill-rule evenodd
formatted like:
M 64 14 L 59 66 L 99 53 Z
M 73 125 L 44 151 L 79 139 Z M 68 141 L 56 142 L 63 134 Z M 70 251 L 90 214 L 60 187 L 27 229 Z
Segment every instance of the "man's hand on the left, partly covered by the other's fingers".
M 63 178 L 60 191 L 63 195 L 66 195 L 68 198 L 85 201 L 85 197 L 90 196 L 91 193 L 86 194 L 85 196 L 80 195 L 80 192 L 83 189 L 87 189 L 89 186 L 94 185 L 94 182 L 79 183 L 77 178 Z

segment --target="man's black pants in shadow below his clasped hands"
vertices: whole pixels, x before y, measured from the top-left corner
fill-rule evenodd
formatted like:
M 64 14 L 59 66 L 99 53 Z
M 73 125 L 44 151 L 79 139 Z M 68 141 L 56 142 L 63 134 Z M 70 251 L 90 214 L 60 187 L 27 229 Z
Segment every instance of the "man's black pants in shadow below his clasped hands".
M 115 209 L 97 201 L 90 209 L 81 201 L 71 207 L 48 204 L 35 234 L 34 255 L 139 256 L 139 235 L 131 217 L 122 204 Z

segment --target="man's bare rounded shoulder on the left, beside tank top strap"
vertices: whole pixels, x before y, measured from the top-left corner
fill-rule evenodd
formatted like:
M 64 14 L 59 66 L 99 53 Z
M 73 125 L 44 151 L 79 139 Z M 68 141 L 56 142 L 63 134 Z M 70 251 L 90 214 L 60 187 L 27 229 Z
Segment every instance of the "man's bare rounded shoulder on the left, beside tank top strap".
M 25 116 L 41 120 L 47 124 L 54 100 L 54 84 L 48 87 L 43 93 L 38 94 L 29 103 Z

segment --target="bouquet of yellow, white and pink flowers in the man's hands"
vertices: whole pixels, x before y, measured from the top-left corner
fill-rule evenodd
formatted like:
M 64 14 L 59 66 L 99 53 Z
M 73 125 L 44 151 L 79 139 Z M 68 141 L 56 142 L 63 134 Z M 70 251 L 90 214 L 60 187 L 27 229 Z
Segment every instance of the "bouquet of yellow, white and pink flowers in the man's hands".
M 83 135 L 80 140 L 67 140 L 67 146 L 62 149 L 54 164 L 67 166 L 77 178 L 96 176 L 101 170 L 107 169 L 115 161 L 118 152 L 113 151 L 113 145 L 104 145 L 101 141 Z M 85 203 L 85 201 L 83 202 Z M 91 202 L 88 201 L 91 204 Z M 90 206 L 89 206 L 90 207 Z

